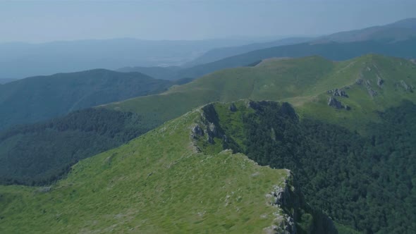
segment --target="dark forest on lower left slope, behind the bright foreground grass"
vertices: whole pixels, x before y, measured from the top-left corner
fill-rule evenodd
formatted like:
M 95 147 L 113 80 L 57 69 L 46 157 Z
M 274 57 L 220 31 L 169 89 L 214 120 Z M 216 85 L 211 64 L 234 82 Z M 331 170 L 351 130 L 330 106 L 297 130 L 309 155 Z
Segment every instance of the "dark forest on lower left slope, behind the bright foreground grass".
M 152 127 L 136 113 L 84 109 L 0 133 L 0 183 L 48 185 L 80 159 L 131 140 Z

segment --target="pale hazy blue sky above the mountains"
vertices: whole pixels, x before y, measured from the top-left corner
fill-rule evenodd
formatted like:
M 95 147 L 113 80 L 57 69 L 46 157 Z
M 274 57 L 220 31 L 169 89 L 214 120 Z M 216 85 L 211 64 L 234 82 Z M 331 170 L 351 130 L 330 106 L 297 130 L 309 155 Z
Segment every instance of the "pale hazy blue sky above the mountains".
M 324 35 L 415 17 L 416 0 L 0 0 L 0 42 Z

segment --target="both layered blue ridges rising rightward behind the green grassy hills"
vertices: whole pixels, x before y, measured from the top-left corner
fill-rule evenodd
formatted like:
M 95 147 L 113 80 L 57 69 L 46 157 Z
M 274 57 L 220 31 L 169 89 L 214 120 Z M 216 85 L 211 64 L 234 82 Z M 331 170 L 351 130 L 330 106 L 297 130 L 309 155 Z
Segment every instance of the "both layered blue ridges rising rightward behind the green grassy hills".
M 154 78 L 174 80 L 178 78 L 197 78 L 215 70 L 250 66 L 265 58 L 324 56 L 331 60 L 345 60 L 376 53 L 404 58 L 416 57 L 416 19 L 400 20 L 384 26 L 368 27 L 362 30 L 338 32 L 319 38 L 292 38 L 276 42 L 250 44 L 241 47 L 214 49 L 188 63 L 192 67 L 130 67 L 119 71 L 137 71 Z M 296 44 L 296 42 L 302 42 Z M 273 45 L 278 45 L 270 47 Z M 240 54 L 240 52 L 245 53 Z M 231 56 L 232 55 L 232 56 Z M 225 57 L 228 56 L 228 57 Z M 213 59 L 218 59 L 212 61 Z

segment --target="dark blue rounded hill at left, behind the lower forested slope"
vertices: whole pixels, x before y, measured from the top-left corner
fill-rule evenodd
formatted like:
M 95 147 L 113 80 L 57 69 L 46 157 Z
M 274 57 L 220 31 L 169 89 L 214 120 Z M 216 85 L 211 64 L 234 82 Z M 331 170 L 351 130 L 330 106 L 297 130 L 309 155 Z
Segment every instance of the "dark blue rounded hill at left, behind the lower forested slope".
M 90 106 L 167 90 L 178 80 L 156 80 L 141 73 L 86 70 L 17 80 L 0 86 L 0 129 L 33 123 Z

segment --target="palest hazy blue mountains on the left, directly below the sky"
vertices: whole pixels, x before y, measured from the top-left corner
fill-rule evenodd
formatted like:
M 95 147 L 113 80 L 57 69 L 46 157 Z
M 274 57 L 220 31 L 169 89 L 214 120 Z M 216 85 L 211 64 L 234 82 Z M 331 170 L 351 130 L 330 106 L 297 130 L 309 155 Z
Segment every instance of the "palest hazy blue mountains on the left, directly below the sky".
M 262 39 L 207 39 L 151 41 L 141 39 L 90 39 L 29 44 L 0 44 L 0 77 L 70 73 L 93 68 L 124 66 L 177 66 L 216 47 L 262 42 Z

